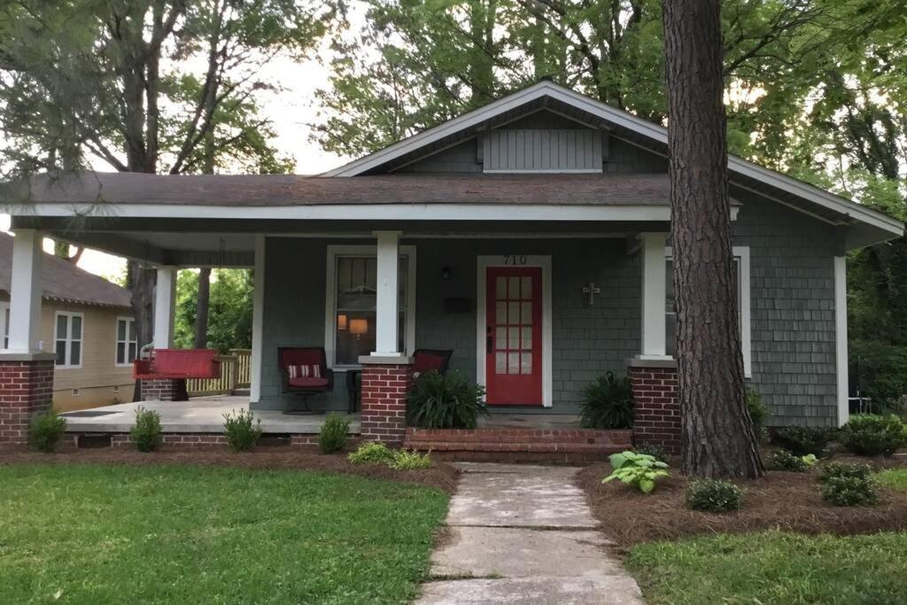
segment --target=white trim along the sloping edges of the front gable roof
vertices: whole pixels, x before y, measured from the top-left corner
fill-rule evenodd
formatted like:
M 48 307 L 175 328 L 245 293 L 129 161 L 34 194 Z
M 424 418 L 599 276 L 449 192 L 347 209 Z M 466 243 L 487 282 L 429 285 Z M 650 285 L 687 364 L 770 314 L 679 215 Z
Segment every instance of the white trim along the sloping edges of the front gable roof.
M 533 84 L 498 101 L 488 103 L 472 112 L 464 113 L 457 118 L 453 118 L 453 120 L 415 134 L 403 141 L 396 142 L 381 151 L 375 151 L 375 153 L 366 155 L 356 161 L 351 161 L 333 171 L 327 171 L 325 176 L 353 177 L 362 174 L 388 161 L 393 161 L 406 153 L 417 151 L 434 141 L 439 141 L 444 139 L 444 137 L 478 126 L 497 115 L 510 112 L 542 97 L 550 97 L 553 100 L 571 105 L 580 111 L 598 116 L 606 122 L 616 124 L 631 132 L 636 132 L 652 141 L 657 141 L 664 145 L 668 144 L 668 130 L 663 126 L 648 122 L 580 93 L 575 93 L 558 84 L 545 81 Z M 764 182 L 766 185 L 792 193 L 828 210 L 834 210 L 848 217 L 861 220 L 877 229 L 883 229 L 891 234 L 892 237 L 903 235 L 903 224 L 901 221 L 861 206 L 851 200 L 845 200 L 840 196 L 818 189 L 805 182 L 796 181 L 780 172 L 772 171 L 730 154 L 728 154 L 727 166 L 732 173 Z

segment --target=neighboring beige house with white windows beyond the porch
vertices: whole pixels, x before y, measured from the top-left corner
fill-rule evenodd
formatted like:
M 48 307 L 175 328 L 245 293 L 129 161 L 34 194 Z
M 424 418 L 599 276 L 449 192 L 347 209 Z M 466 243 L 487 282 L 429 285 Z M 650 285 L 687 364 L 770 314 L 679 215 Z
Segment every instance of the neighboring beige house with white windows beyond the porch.
M 9 337 L 13 237 L 0 233 L 0 348 Z M 61 411 L 132 401 L 135 341 L 126 288 L 45 255 L 41 336 L 57 356 L 54 407 Z

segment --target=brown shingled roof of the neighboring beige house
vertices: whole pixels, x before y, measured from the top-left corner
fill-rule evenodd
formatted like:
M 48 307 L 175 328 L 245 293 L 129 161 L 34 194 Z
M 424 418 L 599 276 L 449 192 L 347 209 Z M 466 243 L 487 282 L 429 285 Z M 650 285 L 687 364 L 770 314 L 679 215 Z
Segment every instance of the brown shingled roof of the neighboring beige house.
M 0 232 L 0 290 L 9 294 L 13 271 L 13 236 Z M 41 270 L 44 298 L 100 307 L 130 307 L 126 288 L 76 267 L 73 263 L 44 254 Z

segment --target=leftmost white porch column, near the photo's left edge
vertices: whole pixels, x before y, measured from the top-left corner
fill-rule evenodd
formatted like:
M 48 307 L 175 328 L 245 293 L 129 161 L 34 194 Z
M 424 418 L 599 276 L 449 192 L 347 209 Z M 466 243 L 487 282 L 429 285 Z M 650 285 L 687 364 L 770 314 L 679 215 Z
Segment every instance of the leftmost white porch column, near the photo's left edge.
M 9 298 L 9 351 L 12 353 L 38 353 L 44 348 L 41 341 L 43 240 L 44 236 L 34 229 L 15 229 Z

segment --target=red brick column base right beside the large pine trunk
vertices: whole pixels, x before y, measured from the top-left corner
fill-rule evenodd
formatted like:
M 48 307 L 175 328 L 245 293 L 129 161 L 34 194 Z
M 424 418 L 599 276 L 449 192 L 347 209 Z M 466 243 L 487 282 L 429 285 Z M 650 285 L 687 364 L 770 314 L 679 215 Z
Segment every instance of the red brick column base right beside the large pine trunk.
M 678 370 L 674 362 L 633 359 L 627 376 L 636 401 L 633 443 L 680 454 Z

